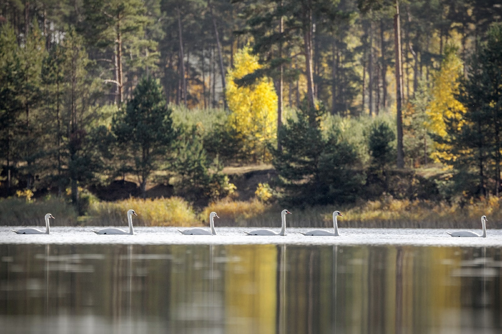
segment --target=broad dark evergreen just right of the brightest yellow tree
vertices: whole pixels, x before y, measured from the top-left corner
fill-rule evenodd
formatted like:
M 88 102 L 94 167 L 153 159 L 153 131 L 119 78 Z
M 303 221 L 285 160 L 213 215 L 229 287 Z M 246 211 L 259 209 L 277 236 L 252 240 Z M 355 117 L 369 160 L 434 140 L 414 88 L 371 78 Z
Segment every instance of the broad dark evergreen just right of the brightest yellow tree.
M 302 207 L 350 202 L 360 190 L 363 178 L 353 169 L 358 162 L 355 149 L 337 129 L 323 134 L 322 110 L 304 106 L 298 119 L 288 119 L 279 132 L 283 147 L 282 152 L 273 150 L 273 164 L 285 203 Z

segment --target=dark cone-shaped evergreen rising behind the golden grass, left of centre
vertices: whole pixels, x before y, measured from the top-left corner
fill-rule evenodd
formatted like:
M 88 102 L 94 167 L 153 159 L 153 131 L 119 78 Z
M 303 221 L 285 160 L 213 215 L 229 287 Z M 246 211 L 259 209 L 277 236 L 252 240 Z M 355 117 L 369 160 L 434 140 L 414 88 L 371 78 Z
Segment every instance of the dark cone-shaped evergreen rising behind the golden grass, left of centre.
M 113 119 L 112 129 L 128 158 L 131 169 L 138 177 L 143 197 L 153 171 L 160 168 L 175 136 L 171 109 L 166 106 L 157 80 L 144 77 L 134 90 L 125 111 Z

